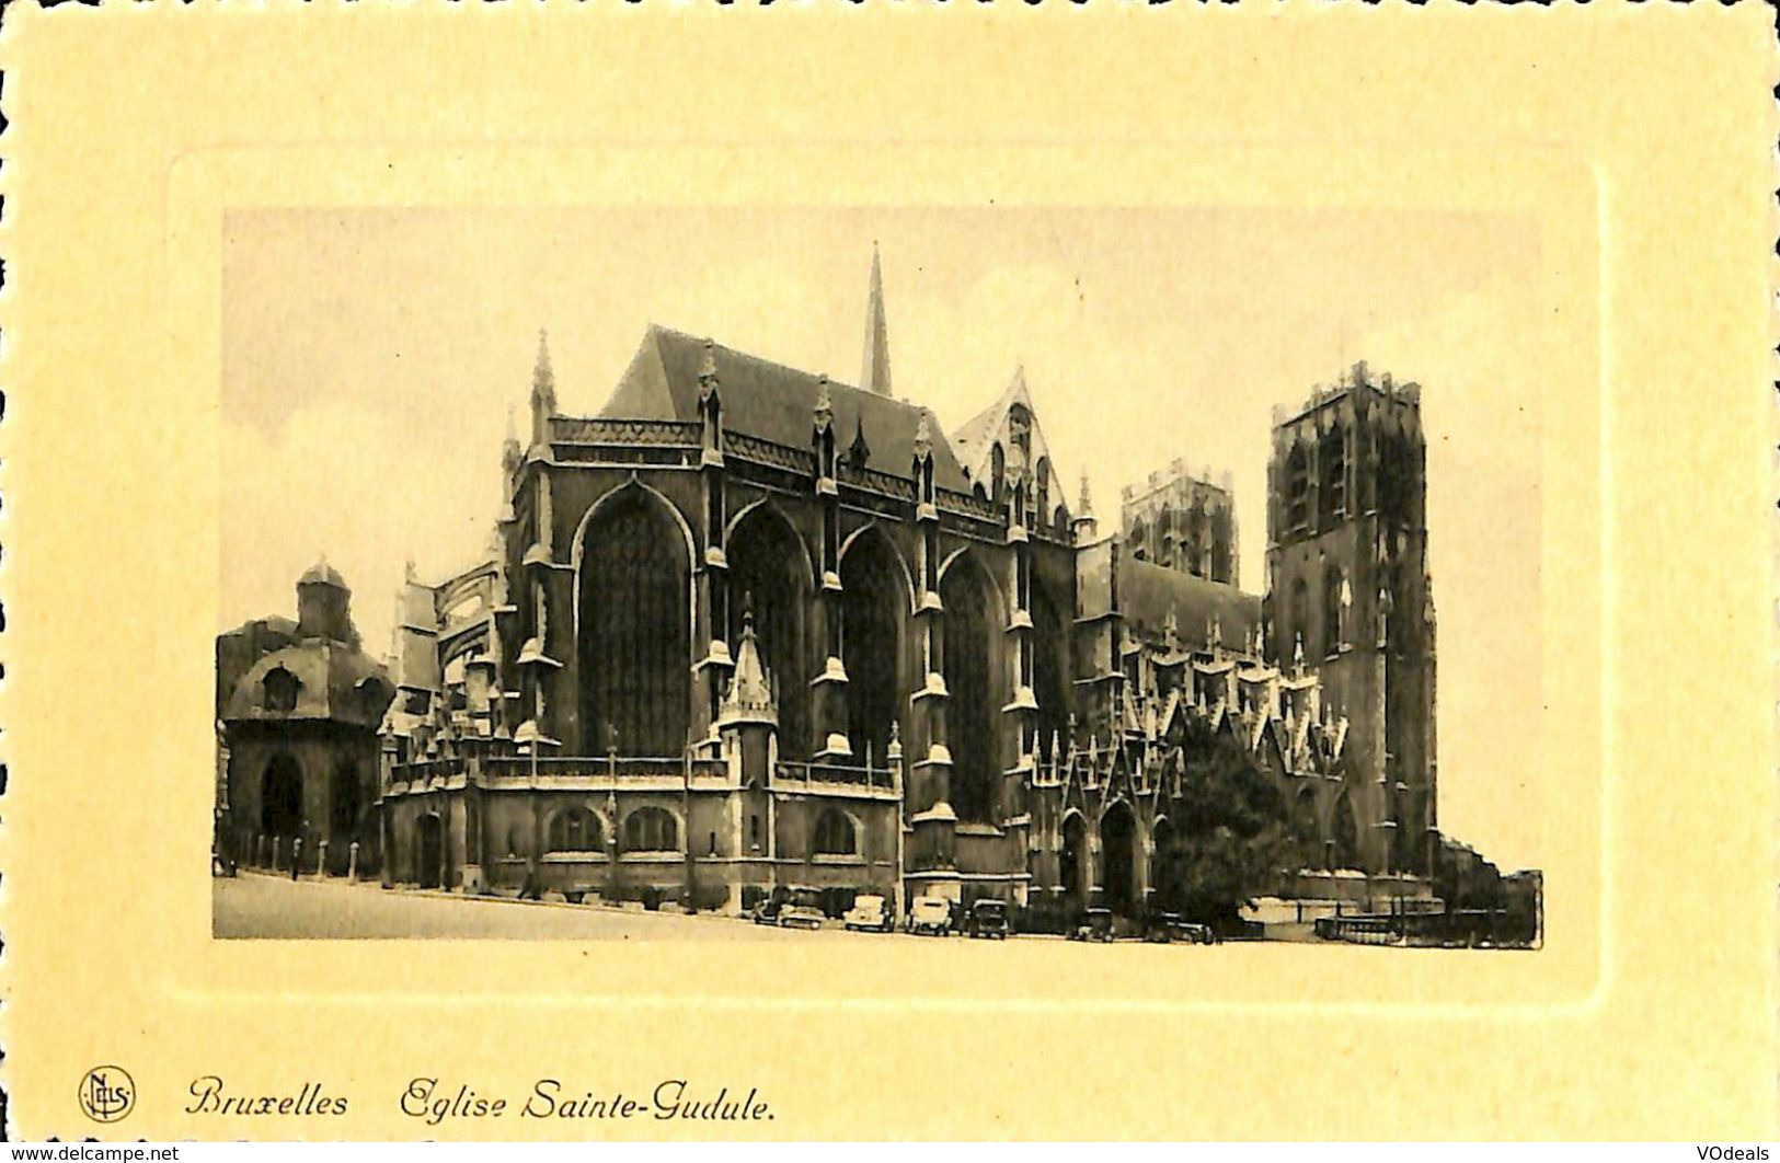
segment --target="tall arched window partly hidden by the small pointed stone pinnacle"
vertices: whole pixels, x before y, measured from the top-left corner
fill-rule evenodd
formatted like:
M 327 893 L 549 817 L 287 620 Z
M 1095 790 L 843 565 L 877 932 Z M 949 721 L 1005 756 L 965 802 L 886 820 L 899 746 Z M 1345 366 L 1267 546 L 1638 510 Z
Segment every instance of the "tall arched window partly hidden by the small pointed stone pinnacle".
M 778 695 L 780 754 L 810 758 L 810 564 L 803 541 L 778 510 L 756 507 L 735 526 L 730 557 L 730 654 L 740 649 L 742 606 L 755 615 L 760 660 Z

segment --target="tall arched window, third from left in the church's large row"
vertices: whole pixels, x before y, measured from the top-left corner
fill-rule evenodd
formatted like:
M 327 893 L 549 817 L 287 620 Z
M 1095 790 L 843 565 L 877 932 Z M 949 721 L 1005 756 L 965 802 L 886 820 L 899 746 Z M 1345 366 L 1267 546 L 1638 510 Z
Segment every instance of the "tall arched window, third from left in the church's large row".
M 862 761 L 883 765 L 890 724 L 908 692 L 901 679 L 902 567 L 883 533 L 862 533 L 840 558 L 842 658 L 847 667 L 847 738 Z

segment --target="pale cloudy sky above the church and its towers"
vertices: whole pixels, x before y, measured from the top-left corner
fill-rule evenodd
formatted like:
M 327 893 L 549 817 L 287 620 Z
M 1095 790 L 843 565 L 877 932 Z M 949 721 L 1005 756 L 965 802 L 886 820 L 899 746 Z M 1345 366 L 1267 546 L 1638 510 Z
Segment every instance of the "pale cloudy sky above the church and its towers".
M 856 382 L 872 245 L 895 395 L 954 430 L 1025 368 L 1075 503 L 1228 469 L 1260 589 L 1271 411 L 1365 359 L 1419 381 L 1440 612 L 1442 827 L 1536 866 L 1540 237 L 1401 208 L 397 208 L 224 221 L 228 630 L 292 615 L 326 557 L 386 653 L 406 560 L 472 564 L 523 432 L 539 331 L 559 407 L 598 411 L 650 322 Z

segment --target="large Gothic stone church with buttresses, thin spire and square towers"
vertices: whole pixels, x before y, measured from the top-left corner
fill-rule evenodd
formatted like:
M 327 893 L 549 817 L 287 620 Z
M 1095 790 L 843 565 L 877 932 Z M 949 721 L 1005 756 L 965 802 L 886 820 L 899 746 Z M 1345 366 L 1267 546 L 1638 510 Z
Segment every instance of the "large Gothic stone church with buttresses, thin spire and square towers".
M 490 553 L 397 599 L 388 882 L 742 910 L 995 896 L 1045 925 L 1180 891 L 1194 749 L 1290 806 L 1280 893 L 1428 898 L 1419 391 L 1274 416 L 1264 594 L 1235 498 L 1171 471 L 1102 530 L 1016 372 L 952 434 L 890 393 L 650 327 L 562 414 L 539 341 Z

